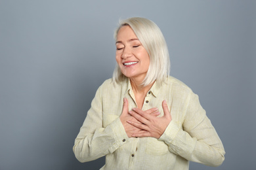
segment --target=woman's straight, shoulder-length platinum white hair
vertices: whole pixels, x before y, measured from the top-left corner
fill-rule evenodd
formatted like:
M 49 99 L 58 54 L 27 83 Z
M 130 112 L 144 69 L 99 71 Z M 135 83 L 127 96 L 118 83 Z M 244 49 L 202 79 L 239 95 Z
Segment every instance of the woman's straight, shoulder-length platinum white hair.
M 164 82 L 169 75 L 170 59 L 167 44 L 158 25 L 146 18 L 139 17 L 121 20 L 114 33 L 115 40 L 119 29 L 125 25 L 129 25 L 133 29 L 150 58 L 150 65 L 142 86 L 152 84 L 155 80 L 158 83 Z M 113 82 L 118 83 L 124 79 L 125 75 L 121 73 L 119 65 L 116 65 L 112 77 Z

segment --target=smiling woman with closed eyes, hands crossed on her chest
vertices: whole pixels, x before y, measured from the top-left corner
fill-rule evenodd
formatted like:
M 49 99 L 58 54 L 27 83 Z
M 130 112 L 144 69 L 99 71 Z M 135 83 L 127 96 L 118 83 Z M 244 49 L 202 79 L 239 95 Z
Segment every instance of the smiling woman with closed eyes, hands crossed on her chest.
M 81 162 L 106 156 L 101 169 L 188 169 L 221 165 L 224 148 L 198 95 L 169 76 L 163 35 L 146 18 L 120 22 L 117 66 L 97 90 L 75 139 Z

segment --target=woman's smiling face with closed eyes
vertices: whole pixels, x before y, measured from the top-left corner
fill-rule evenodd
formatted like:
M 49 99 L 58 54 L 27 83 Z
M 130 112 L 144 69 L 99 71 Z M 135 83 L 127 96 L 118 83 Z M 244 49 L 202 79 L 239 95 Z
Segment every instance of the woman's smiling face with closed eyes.
M 150 64 L 148 52 L 128 25 L 117 33 L 116 61 L 123 75 L 144 80 Z

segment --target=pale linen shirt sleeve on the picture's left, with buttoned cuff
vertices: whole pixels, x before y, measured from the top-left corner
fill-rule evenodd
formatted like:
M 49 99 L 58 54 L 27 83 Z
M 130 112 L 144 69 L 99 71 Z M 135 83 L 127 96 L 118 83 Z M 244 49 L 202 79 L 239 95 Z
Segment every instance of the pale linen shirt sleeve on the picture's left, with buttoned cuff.
M 75 139 L 73 151 L 77 160 L 81 162 L 96 160 L 129 142 L 119 118 L 103 127 L 101 88 L 102 86 L 98 88 L 91 109 L 87 112 L 87 117 Z

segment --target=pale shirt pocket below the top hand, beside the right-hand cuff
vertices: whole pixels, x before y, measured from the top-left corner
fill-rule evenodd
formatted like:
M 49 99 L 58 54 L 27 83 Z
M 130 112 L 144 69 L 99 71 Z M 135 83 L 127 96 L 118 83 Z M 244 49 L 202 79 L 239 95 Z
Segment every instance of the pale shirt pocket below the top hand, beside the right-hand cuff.
M 167 144 L 163 141 L 158 141 L 154 137 L 148 137 L 146 142 L 146 154 L 163 155 L 169 152 Z

